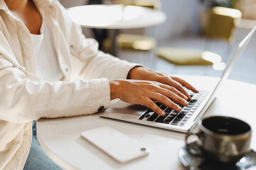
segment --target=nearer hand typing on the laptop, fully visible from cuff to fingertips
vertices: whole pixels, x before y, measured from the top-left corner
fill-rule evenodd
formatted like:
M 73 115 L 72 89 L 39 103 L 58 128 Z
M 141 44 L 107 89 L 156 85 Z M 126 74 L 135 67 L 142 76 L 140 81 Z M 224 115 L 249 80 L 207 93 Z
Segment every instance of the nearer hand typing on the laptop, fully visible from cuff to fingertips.
M 164 106 L 181 111 L 182 106 L 188 106 L 188 97 L 172 86 L 156 81 L 142 80 L 110 80 L 110 99 L 120 98 L 121 101 L 140 104 L 150 108 L 159 115 L 165 115 L 154 101 Z

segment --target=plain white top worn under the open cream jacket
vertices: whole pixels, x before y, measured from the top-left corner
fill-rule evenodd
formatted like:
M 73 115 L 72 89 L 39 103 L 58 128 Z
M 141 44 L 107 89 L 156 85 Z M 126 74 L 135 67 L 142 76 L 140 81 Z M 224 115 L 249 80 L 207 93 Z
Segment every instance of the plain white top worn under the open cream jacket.
M 64 74 L 58 62 L 53 35 L 44 21 L 41 34 L 31 34 L 31 38 L 36 54 L 36 76 L 50 82 L 62 79 Z

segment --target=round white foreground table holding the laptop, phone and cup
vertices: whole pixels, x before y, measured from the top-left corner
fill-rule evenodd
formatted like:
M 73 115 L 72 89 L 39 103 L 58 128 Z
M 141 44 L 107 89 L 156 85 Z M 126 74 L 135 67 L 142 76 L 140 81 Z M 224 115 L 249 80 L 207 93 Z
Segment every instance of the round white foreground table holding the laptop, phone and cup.
M 212 86 L 212 77 L 183 77 L 198 88 Z M 256 86 L 228 80 L 221 86 L 215 101 L 205 115 L 229 115 L 245 120 L 252 126 L 252 149 L 256 149 Z M 127 164 L 114 159 L 80 137 L 80 132 L 110 126 L 144 143 L 148 156 Z M 185 169 L 178 160 L 178 149 L 184 145 L 185 135 L 169 130 L 124 123 L 100 118 L 98 114 L 73 118 L 41 119 L 37 123 L 38 141 L 48 156 L 64 169 Z

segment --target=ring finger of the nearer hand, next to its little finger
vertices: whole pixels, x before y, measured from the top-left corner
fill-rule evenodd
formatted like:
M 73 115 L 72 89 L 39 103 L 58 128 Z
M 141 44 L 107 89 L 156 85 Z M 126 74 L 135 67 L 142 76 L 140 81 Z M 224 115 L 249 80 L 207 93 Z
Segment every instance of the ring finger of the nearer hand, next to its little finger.
M 166 97 L 162 94 L 158 94 L 158 93 L 151 94 L 151 100 L 158 101 L 159 103 L 164 104 L 164 106 L 172 108 L 172 109 L 174 109 L 175 111 L 178 111 L 178 112 L 180 112 L 181 109 L 182 109 L 176 103 L 171 101 L 168 97 Z

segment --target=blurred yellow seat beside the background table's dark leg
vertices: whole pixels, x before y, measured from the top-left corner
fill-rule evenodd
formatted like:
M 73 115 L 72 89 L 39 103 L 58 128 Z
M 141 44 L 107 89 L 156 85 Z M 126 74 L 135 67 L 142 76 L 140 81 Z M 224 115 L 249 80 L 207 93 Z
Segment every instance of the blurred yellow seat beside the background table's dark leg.
M 156 41 L 144 35 L 119 34 L 117 44 L 124 49 L 148 51 L 155 47 Z

